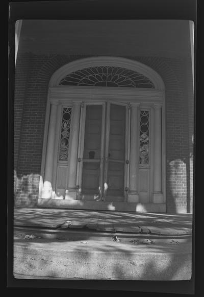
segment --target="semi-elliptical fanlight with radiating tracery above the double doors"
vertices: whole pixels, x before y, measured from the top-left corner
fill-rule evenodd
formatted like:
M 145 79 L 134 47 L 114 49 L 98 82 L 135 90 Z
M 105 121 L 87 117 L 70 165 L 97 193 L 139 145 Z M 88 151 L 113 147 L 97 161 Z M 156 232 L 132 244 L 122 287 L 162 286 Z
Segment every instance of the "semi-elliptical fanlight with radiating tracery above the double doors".
M 144 75 L 115 66 L 95 66 L 72 72 L 59 85 L 155 88 Z

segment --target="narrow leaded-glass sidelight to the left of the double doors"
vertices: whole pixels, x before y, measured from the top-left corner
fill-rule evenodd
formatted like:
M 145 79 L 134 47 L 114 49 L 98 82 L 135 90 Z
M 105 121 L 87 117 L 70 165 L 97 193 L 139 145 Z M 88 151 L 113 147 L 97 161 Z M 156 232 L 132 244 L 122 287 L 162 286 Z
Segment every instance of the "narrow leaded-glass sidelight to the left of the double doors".
M 70 124 L 71 124 L 71 108 L 64 107 L 62 112 L 59 161 L 68 160 Z

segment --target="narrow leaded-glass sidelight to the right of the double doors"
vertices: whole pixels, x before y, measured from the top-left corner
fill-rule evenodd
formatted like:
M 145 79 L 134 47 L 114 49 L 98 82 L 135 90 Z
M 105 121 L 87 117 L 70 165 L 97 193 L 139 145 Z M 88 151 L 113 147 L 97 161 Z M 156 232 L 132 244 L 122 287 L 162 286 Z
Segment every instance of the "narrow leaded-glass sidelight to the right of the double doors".
M 140 164 L 149 164 L 149 111 L 140 111 Z

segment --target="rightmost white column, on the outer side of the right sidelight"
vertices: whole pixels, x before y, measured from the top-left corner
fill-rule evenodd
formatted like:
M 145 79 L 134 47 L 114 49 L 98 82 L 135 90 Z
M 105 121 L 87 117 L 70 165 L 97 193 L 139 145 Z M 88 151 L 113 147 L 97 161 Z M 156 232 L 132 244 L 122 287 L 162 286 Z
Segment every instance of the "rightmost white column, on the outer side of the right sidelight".
M 161 105 L 155 104 L 155 151 L 154 151 L 154 194 L 153 202 L 162 203 L 162 121 Z

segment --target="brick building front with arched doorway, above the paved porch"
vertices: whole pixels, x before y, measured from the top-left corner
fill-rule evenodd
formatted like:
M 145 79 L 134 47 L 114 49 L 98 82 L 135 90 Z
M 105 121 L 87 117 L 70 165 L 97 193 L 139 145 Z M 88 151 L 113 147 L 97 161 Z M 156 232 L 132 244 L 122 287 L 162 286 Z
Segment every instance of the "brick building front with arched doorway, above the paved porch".
M 23 20 L 16 206 L 192 212 L 192 24 Z

